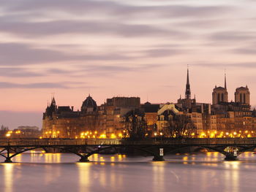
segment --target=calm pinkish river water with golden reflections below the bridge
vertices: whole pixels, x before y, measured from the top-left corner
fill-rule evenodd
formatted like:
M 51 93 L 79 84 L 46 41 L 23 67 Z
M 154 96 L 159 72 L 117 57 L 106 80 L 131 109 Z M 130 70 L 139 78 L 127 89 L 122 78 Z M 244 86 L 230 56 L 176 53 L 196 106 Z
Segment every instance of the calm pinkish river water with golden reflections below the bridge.
M 69 153 L 23 153 L 0 164 L 1 192 L 256 191 L 256 155 L 223 161 L 219 153 L 152 157 L 93 155 L 78 163 Z M 4 158 L 0 157 L 0 161 Z

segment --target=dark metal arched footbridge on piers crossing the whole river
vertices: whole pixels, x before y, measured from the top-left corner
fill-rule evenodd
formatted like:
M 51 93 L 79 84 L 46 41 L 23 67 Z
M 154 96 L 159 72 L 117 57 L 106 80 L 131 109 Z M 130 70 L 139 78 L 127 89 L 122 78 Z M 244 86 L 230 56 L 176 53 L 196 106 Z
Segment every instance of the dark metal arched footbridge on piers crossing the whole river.
M 89 162 L 89 157 L 106 150 L 120 151 L 133 149 L 141 154 L 152 155 L 153 161 L 165 161 L 164 155 L 182 150 L 186 147 L 205 148 L 225 155 L 225 160 L 236 160 L 238 155 L 254 150 L 256 138 L 203 138 L 173 139 L 151 138 L 131 139 L 0 139 L 0 155 L 5 163 L 12 163 L 12 158 L 29 150 L 58 150 L 78 155 L 80 162 Z

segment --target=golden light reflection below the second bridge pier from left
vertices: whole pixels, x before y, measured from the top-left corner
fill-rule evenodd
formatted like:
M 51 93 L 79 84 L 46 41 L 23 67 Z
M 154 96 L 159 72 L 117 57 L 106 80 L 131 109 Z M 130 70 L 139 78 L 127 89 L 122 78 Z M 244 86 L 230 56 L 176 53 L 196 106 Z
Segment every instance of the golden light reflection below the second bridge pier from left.
M 90 186 L 90 168 L 91 163 L 77 163 L 79 170 L 79 187 L 80 191 L 85 191 Z

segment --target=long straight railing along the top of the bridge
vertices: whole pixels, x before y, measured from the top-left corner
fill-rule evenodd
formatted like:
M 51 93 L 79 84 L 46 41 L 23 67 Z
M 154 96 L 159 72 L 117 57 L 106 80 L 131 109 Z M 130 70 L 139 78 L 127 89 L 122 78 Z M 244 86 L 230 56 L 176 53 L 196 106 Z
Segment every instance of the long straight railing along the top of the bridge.
M 256 138 L 171 139 L 0 139 L 0 147 L 52 145 L 256 145 Z

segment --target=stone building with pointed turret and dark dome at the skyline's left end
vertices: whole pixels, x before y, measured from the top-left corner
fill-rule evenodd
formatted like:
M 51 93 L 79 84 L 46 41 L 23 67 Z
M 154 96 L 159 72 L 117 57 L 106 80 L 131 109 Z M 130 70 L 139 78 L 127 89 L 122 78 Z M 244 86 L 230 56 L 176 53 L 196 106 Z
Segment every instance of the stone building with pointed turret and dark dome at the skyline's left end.
M 96 137 L 93 133 L 98 129 L 97 104 L 91 96 L 83 101 L 81 111 L 69 106 L 58 107 L 53 98 L 43 114 L 43 137 L 78 138 L 83 132 L 89 132 L 88 137 Z

